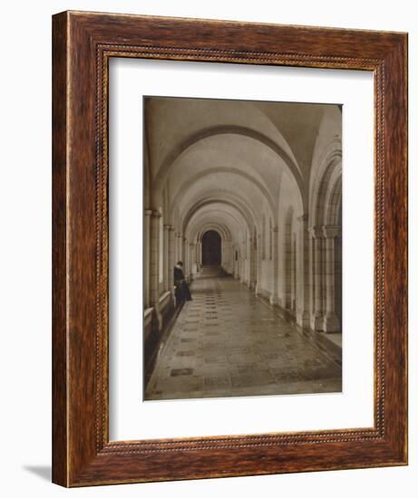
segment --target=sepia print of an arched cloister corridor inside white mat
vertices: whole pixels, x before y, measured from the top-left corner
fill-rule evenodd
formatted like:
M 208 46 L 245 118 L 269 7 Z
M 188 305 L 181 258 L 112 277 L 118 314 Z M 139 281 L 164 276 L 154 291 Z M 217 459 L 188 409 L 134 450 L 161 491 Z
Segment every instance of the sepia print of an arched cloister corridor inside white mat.
M 145 401 L 342 392 L 342 113 L 143 97 Z

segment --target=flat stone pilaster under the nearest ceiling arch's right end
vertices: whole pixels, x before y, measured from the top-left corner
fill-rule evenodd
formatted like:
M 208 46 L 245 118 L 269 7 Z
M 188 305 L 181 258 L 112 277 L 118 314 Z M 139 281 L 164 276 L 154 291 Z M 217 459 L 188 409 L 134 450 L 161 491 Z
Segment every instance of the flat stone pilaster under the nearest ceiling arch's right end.
M 309 327 L 309 232 L 307 215 L 297 218 L 299 241 L 296 247 L 296 267 L 299 269 L 299 279 L 296 283 L 296 323 L 300 327 Z

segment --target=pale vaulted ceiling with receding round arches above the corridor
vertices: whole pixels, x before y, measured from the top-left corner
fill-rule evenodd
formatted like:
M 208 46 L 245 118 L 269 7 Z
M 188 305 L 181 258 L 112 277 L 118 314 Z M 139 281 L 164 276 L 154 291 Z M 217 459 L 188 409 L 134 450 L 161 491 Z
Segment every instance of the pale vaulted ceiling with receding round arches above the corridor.
M 334 105 L 147 97 L 150 203 L 192 236 L 219 224 L 238 238 L 265 212 L 275 222 L 282 198 L 302 214 L 325 119 L 341 135 Z

